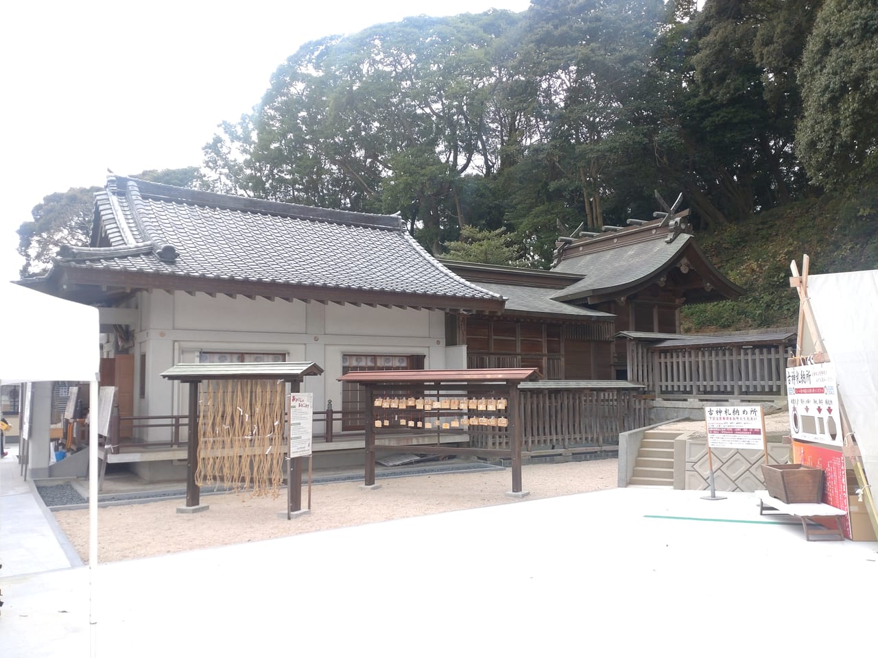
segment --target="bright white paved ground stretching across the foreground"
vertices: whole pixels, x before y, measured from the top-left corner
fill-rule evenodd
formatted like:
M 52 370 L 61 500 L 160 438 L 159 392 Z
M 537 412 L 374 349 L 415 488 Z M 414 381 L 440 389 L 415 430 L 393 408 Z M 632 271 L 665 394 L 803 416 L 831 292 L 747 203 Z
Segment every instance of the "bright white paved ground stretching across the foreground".
M 3 658 L 873 647 L 878 542 L 806 542 L 752 494 L 606 490 L 64 569 L 10 464 L 0 538 L 19 566 L 0 578 Z

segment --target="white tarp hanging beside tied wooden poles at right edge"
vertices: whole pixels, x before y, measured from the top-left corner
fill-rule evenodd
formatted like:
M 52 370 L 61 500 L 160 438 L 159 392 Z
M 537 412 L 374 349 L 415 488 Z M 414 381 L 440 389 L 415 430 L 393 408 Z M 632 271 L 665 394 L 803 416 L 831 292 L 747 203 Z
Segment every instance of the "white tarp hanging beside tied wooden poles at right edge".
M 810 275 L 808 297 L 866 476 L 878 483 L 878 270 Z

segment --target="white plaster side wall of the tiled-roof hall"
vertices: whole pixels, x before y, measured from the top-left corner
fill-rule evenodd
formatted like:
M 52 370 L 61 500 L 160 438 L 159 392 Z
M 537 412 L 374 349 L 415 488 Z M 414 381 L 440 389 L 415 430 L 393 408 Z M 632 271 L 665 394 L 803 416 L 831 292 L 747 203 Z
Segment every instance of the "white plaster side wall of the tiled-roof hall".
M 446 368 L 441 311 L 170 295 L 163 290 L 141 293 L 139 306 L 135 368 L 145 352 L 147 390 L 141 399 L 135 385 L 135 408 L 142 415 L 186 412 L 188 386 L 168 382 L 162 372 L 196 361 L 199 351 L 281 353 L 288 361 L 313 361 L 324 374 L 306 377 L 302 390 L 313 393 L 315 409 L 325 409 L 330 399 L 335 410 L 342 408 L 342 354 L 423 354 L 425 368 Z M 459 358 L 455 354 L 452 360 L 457 364 Z M 167 440 L 167 430 L 143 438 Z

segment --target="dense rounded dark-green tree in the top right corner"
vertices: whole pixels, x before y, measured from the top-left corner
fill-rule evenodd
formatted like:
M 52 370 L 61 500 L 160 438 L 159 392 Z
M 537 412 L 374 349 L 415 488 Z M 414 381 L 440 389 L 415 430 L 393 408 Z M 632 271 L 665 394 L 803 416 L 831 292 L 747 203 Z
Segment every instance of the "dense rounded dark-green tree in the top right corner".
M 795 152 L 810 181 L 843 190 L 878 176 L 878 4 L 826 0 L 810 33 L 798 82 L 802 118 Z

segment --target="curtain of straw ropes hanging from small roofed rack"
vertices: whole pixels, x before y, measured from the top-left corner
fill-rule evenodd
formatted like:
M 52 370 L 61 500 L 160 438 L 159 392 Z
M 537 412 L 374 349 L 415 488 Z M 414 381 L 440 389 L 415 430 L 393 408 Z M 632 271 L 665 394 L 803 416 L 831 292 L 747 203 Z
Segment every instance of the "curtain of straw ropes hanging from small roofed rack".
M 195 482 L 277 497 L 284 480 L 284 383 L 207 381 L 199 391 Z

